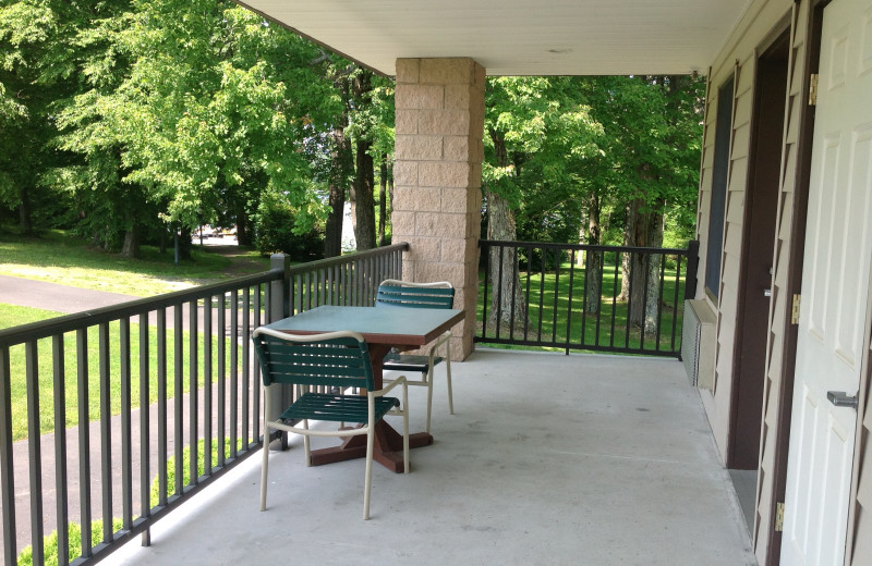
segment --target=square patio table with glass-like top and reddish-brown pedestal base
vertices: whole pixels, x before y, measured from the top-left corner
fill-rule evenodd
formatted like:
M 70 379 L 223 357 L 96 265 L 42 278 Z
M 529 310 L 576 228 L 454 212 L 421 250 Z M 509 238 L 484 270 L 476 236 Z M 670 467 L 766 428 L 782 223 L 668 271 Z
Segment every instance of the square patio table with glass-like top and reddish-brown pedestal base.
M 382 389 L 382 361 L 392 347 L 421 347 L 463 320 L 461 309 L 374 308 L 322 306 L 267 324 L 296 334 L 319 334 L 353 330 L 363 334 L 370 347 L 373 379 Z M 433 444 L 433 435 L 409 435 L 409 447 Z M 331 464 L 366 455 L 366 438 L 350 436 L 341 445 L 312 451 L 312 465 Z M 402 435 L 383 420 L 376 423 L 373 458 L 395 472 L 403 471 Z

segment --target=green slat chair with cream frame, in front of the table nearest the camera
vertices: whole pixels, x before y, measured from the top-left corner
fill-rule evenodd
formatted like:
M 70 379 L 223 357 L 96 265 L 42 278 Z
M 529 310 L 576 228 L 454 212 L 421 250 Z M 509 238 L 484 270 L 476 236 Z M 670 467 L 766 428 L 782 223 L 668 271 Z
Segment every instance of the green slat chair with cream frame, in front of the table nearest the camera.
M 409 389 L 405 380 L 396 380 L 389 386 L 373 391 L 373 366 L 370 348 L 356 332 L 329 332 L 299 335 L 257 328 L 252 334 L 266 392 L 264 402 L 264 438 L 271 430 L 283 430 L 303 435 L 306 466 L 311 465 L 310 436 L 353 436 L 366 434 L 366 466 L 363 491 L 363 518 L 370 518 L 370 491 L 373 477 L 373 445 L 375 424 L 385 415 L 400 415 L 403 419 L 403 465 L 409 473 Z M 267 419 L 272 384 L 296 386 L 296 401 L 284 409 L 277 420 Z M 397 385 L 402 386 L 402 402 L 385 396 Z M 366 395 L 342 394 L 363 387 Z M 340 392 L 340 393 L 336 393 Z M 310 429 L 310 420 L 332 422 L 361 422 L 360 428 L 338 430 Z M 302 427 L 298 426 L 302 423 Z M 261 471 L 261 510 L 266 509 L 268 443 L 264 445 L 264 464 Z

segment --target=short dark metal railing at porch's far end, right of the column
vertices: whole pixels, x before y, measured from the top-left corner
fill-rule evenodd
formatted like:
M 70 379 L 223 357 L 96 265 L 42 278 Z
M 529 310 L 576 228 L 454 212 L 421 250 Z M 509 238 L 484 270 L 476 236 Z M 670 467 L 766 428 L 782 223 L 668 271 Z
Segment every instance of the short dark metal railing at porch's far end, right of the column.
M 482 241 L 475 342 L 680 357 L 688 249 Z

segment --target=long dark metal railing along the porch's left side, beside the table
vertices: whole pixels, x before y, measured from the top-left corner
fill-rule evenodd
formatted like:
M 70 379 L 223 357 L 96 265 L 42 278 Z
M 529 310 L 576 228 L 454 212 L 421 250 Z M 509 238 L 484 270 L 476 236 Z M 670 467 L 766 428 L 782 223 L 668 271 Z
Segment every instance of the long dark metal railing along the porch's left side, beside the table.
M 0 330 L 3 563 L 26 545 L 33 564 L 57 552 L 63 565 L 71 549 L 89 564 L 136 534 L 147 544 L 150 525 L 261 446 L 252 330 L 372 305 L 405 249 L 274 256 L 265 273 Z

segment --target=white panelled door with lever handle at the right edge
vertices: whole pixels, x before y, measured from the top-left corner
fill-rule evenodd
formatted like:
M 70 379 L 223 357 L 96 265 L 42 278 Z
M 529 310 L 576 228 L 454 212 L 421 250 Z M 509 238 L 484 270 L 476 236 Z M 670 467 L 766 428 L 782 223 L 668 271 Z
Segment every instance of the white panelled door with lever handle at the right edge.
M 824 9 L 783 565 L 840 566 L 872 262 L 872 0 Z

